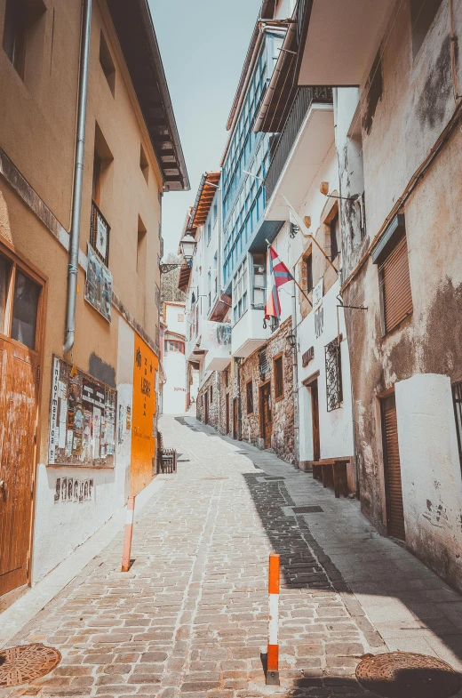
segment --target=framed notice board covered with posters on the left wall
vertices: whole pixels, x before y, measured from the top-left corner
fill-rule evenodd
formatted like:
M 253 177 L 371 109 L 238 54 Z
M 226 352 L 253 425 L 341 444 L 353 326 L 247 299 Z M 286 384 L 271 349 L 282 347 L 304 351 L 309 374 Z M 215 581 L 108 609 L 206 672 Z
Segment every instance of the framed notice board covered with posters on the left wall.
M 114 468 L 116 390 L 59 357 L 52 372 L 48 464 Z

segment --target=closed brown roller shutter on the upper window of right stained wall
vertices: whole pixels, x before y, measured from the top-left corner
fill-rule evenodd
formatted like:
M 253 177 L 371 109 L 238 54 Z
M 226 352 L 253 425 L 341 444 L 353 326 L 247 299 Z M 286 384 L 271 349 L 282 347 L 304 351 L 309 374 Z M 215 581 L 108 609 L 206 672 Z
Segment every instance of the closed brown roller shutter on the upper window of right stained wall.
M 381 269 L 386 332 L 393 330 L 404 317 L 412 312 L 408 245 L 402 237 Z

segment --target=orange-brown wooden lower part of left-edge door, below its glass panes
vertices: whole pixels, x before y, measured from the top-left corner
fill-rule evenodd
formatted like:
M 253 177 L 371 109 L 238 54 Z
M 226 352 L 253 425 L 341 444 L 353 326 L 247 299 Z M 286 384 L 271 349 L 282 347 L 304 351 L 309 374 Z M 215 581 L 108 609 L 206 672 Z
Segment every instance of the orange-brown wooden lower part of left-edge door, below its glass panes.
M 37 367 L 35 352 L 0 339 L 0 596 L 28 582 Z

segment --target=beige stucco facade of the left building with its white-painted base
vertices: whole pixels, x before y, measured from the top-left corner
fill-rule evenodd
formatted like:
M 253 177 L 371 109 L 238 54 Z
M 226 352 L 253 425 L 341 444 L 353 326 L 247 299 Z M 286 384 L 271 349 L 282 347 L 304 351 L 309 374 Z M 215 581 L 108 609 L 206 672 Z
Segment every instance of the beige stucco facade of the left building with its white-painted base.
M 0 148 L 28 185 L 69 230 L 75 154 L 76 102 L 80 52 L 80 0 L 44 0 L 46 12 L 34 30 L 31 56 L 27 54 L 24 82 L 0 45 Z M 0 37 L 3 36 L 5 0 L 0 0 Z M 53 26 L 54 24 L 54 26 Z M 104 32 L 116 67 L 113 96 L 100 66 L 100 32 Z M 34 45 L 35 44 L 35 45 Z M 31 50 L 32 51 L 32 50 Z M 92 167 L 95 124 L 98 123 L 113 160 L 102 182 L 100 209 L 111 226 L 109 269 L 113 288 L 129 315 L 155 341 L 158 309 L 155 285 L 160 285 L 158 255 L 162 178 L 130 76 L 123 63 L 116 35 L 104 2 L 94 2 L 80 249 L 86 254 L 90 236 Z M 139 167 L 140 144 L 147 155 L 148 181 Z M 137 272 L 138 220 L 146 229 L 146 269 Z M 66 234 L 61 235 L 66 244 Z M 46 468 L 51 395 L 52 355 L 62 357 L 65 328 L 68 251 L 21 200 L 0 174 L 0 240 L 5 239 L 47 278 L 44 313 L 44 352 L 41 360 L 39 429 L 36 478 L 36 526 L 33 579 L 46 574 L 76 545 L 92 534 L 117 508 L 123 506 L 127 485 L 116 472 L 83 469 L 79 477 L 94 477 L 95 501 L 85 511 L 54 507 L 56 477 L 75 476 L 75 469 Z M 120 343 L 119 325 L 125 321 L 112 307 L 109 324 L 84 301 L 85 272 L 78 271 L 76 342 L 72 360 L 84 371 L 100 364 L 100 380 L 113 376 L 118 385 L 120 365 L 132 365 L 133 356 Z M 120 344 L 120 347 L 119 347 Z M 71 357 L 67 357 L 71 360 Z M 100 359 L 100 362 L 98 361 Z M 123 383 L 126 383 L 123 377 Z M 128 384 L 128 383 L 127 383 Z M 117 459 L 116 459 L 117 469 Z M 79 505 L 76 505 L 77 509 Z M 59 536 L 59 546 L 54 545 Z M 58 540 L 58 539 L 57 539 Z

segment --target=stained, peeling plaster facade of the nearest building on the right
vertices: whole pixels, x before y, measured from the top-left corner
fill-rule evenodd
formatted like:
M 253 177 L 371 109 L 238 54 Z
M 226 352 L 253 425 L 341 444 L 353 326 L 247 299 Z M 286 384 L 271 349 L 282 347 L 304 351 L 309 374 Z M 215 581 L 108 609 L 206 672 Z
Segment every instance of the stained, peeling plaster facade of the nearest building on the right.
M 362 116 L 360 137 L 367 224 L 366 237 L 361 241 L 353 206 L 348 202 L 342 204 L 344 278 L 354 269 L 395 202 L 402 197 L 411 175 L 434 146 L 455 108 L 450 72 L 448 4 L 441 4 L 415 58 L 412 57 L 410 42 L 409 2 L 396 4 L 396 11 L 396 20 L 386 31 L 389 38 L 381 49 L 377 99 L 369 100 L 369 103 L 362 100 L 356 108 L 354 91 L 339 90 L 337 95 L 336 138 L 342 196 L 360 193 L 354 190 L 360 163 L 353 162 L 348 148 L 354 124 L 358 122 L 358 115 Z M 454 12 L 455 32 L 460 36 L 462 6 L 455 4 Z M 460 75 L 460 52 L 457 62 Z M 376 84 L 374 89 L 377 87 Z M 435 463 L 450 462 L 452 446 L 448 434 L 455 428 L 454 414 L 442 393 L 446 391 L 449 400 L 450 381 L 462 377 L 459 341 L 462 333 L 462 259 L 459 245 L 455 244 L 462 226 L 459 205 L 462 195 L 461 156 L 462 140 L 456 128 L 402 206 L 410 267 L 411 316 L 382 336 L 378 268 L 370 258 L 344 294 L 345 303 L 363 304 L 368 308 L 365 312 L 346 311 L 362 510 L 381 531 L 386 532 L 378 397 L 395 385 L 397 402 L 402 400 L 402 416 L 398 408 L 398 421 L 400 448 L 403 443 L 406 454 L 405 461 L 402 461 L 402 482 L 407 534 L 409 531 L 407 543 L 451 583 L 455 583 L 457 567 L 454 559 L 459 542 L 457 538 L 446 536 L 443 545 L 441 527 L 429 524 L 424 517 L 424 514 L 429 514 L 426 499 L 438 500 L 430 475 L 433 466 L 424 458 L 425 468 L 419 474 L 416 491 L 416 468 L 417 463 L 421 466 L 422 459 L 419 460 L 417 455 L 411 457 L 405 439 L 410 438 L 411 443 L 417 445 L 415 433 L 422 429 L 422 421 L 419 421 L 416 405 L 420 401 L 423 414 L 431 412 L 429 396 L 433 395 L 444 407 L 446 423 L 442 429 L 442 415 L 428 421 L 426 440 L 432 439 L 430 453 Z M 439 378 L 430 379 L 427 374 L 438 374 Z M 446 386 L 444 391 L 442 384 Z M 428 387 L 428 394 L 424 385 Z M 410 417 L 414 425 L 413 436 L 405 417 Z M 421 445 L 418 453 L 422 453 Z M 441 490 L 438 496 L 448 502 L 445 506 L 451 507 L 453 492 L 450 492 L 449 475 L 439 482 Z M 432 509 L 433 506 L 432 503 Z M 455 510 L 451 509 L 450 516 L 455 526 L 458 516 Z M 456 535 L 455 529 L 453 531 Z M 442 557 L 440 562 L 439 555 Z

